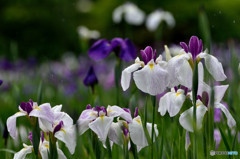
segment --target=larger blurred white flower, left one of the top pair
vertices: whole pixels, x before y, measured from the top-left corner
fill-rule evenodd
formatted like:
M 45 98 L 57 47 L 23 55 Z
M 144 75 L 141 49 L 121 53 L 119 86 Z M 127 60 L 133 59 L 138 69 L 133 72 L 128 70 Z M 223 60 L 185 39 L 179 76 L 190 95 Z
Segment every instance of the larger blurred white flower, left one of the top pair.
M 128 24 L 141 25 L 145 19 L 145 13 L 135 4 L 127 2 L 114 9 L 112 18 L 114 23 L 120 23 L 124 18 Z

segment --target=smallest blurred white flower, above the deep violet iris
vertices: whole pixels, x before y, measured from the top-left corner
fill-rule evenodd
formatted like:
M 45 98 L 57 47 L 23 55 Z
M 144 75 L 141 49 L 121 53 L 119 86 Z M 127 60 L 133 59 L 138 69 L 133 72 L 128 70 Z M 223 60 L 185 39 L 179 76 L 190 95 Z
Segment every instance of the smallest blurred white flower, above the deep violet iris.
M 97 30 L 89 30 L 85 26 L 79 26 L 77 28 L 78 34 L 83 39 L 98 39 L 100 37 L 100 33 Z

